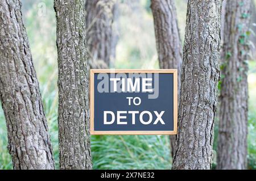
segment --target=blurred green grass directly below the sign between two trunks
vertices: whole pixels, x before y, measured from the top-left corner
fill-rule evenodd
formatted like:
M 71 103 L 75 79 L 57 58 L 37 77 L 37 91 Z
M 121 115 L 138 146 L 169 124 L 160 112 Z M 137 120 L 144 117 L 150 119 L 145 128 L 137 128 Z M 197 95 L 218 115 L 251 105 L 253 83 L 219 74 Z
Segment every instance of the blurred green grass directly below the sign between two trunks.
M 171 169 L 168 136 L 92 136 L 93 169 Z

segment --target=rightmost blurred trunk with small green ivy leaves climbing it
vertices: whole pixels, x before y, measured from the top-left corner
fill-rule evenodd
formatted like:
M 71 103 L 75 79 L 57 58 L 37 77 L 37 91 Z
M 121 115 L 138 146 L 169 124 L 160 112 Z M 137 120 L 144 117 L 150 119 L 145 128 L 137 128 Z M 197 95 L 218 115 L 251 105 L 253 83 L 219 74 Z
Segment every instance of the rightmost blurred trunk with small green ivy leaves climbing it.
M 250 5 L 226 2 L 217 169 L 246 169 Z

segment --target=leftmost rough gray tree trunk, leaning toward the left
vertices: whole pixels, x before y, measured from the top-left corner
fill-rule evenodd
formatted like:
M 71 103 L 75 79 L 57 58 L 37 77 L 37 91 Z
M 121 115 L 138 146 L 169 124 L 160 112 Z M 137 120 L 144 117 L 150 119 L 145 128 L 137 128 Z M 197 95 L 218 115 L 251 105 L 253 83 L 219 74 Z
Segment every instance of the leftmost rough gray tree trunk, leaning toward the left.
M 0 98 L 14 169 L 54 169 L 19 1 L 0 1 Z

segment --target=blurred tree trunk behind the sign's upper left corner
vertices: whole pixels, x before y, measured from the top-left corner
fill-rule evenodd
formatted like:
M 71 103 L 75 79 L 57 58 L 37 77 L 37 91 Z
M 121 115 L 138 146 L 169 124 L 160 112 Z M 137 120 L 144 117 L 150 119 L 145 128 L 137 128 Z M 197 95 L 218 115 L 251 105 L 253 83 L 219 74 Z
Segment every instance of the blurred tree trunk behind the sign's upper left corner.
M 113 20 L 117 13 L 116 0 L 86 1 L 86 31 L 88 58 L 94 62 L 113 64 L 117 35 L 113 31 Z

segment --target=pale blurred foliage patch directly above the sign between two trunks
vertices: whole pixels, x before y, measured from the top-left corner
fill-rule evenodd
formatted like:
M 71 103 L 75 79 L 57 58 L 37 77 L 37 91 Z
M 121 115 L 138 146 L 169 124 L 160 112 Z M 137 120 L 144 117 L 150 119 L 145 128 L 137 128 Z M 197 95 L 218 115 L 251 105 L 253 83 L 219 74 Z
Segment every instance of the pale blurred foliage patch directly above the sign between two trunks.
M 158 68 L 151 11 L 145 9 L 148 1 L 129 1 L 119 4 L 118 44 L 114 68 L 154 69 Z

